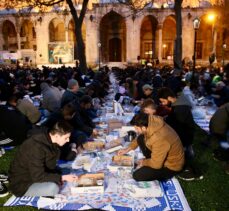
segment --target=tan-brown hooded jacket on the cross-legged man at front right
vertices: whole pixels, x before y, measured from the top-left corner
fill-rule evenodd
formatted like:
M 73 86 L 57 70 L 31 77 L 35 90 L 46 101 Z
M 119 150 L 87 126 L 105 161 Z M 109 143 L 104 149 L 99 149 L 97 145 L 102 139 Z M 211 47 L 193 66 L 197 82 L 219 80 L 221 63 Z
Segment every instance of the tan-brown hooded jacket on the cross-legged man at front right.
M 143 166 L 153 169 L 166 167 L 173 171 L 180 171 L 184 165 L 184 150 L 180 138 L 161 117 L 149 116 L 146 130 L 145 145 L 151 151 L 151 158 L 143 160 Z M 135 139 L 129 147 L 138 147 Z

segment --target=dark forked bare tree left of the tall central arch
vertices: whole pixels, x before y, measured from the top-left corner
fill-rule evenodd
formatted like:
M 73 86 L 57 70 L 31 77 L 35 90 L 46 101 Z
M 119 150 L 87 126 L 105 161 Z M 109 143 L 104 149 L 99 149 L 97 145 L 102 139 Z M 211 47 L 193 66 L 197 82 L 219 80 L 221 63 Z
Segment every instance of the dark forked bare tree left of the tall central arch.
M 41 11 L 45 11 L 47 7 L 51 7 L 54 5 L 58 5 L 65 0 L 1 0 L 0 6 L 4 8 L 34 8 L 38 7 Z M 75 37 L 76 37 L 76 43 L 77 43 L 77 54 L 80 61 L 80 68 L 82 72 L 87 71 L 87 61 L 86 61 L 86 55 L 85 55 L 85 43 L 83 41 L 82 36 L 82 25 L 83 20 L 87 11 L 87 5 L 89 0 L 83 0 L 82 2 L 82 9 L 78 13 L 76 11 L 76 8 L 74 6 L 73 0 L 66 0 L 71 15 L 73 17 L 73 21 L 75 24 Z

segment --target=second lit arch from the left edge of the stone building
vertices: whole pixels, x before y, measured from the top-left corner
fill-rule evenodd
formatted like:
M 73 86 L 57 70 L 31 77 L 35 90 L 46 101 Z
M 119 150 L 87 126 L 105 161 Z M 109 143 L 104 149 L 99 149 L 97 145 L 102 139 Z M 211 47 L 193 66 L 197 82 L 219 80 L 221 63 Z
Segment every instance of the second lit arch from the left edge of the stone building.
M 36 49 L 36 31 L 30 20 L 24 20 L 20 30 L 21 49 Z

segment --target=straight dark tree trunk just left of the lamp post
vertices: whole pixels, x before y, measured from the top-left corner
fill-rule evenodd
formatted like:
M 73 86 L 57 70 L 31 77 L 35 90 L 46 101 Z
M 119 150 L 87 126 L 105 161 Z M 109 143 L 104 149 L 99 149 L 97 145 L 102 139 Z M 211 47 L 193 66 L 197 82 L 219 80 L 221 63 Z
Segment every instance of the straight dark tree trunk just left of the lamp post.
M 176 40 L 174 48 L 174 68 L 176 72 L 182 71 L 182 17 L 181 17 L 181 5 L 183 0 L 175 1 L 175 17 L 176 17 Z

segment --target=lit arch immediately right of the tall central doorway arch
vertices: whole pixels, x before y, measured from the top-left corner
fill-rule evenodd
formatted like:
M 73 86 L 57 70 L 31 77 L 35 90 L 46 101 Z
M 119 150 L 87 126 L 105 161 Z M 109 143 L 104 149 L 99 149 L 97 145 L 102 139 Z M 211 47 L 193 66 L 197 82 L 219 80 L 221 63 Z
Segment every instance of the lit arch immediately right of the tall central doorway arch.
M 140 35 L 140 57 L 141 59 L 152 61 L 158 57 L 157 40 L 158 21 L 152 15 L 143 18 Z

